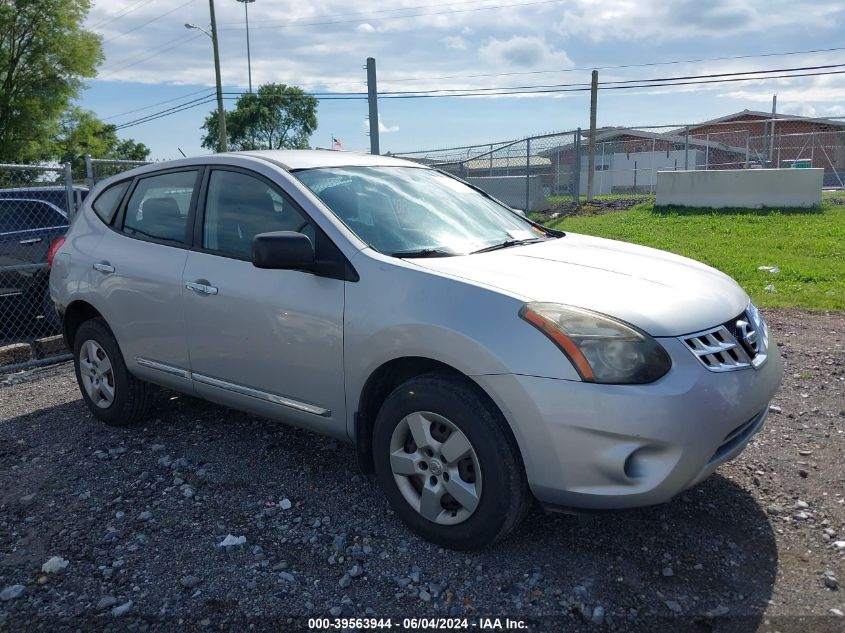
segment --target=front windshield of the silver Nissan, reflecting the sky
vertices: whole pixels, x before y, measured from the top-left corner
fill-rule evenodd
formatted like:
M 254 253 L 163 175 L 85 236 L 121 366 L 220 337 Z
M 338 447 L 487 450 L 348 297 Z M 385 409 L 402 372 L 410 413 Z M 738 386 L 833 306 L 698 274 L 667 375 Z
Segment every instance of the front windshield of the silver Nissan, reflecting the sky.
M 392 255 L 459 255 L 546 233 L 464 183 L 416 167 L 295 172 L 346 226 Z

